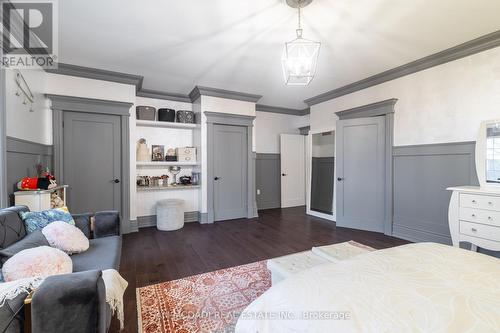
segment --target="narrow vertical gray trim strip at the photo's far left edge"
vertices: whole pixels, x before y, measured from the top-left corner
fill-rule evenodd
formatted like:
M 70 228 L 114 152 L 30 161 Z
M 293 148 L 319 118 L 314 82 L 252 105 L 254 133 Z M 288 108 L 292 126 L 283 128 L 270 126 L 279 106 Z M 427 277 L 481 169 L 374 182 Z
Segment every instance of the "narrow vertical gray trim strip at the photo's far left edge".
M 7 207 L 7 87 L 6 69 L 0 69 L 0 207 Z

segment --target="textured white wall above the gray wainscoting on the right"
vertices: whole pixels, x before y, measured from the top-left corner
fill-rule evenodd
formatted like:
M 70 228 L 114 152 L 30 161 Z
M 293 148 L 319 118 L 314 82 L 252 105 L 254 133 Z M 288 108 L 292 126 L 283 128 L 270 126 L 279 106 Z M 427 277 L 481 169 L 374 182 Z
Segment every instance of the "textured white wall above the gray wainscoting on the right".
M 336 111 L 397 98 L 396 146 L 473 141 L 500 116 L 500 48 L 339 97 L 311 108 L 311 127 L 334 125 Z

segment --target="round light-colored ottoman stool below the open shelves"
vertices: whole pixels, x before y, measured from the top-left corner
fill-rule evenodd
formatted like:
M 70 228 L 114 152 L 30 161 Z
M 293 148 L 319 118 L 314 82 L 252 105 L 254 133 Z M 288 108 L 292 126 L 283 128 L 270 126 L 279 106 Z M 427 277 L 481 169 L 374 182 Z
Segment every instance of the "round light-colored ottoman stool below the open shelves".
M 156 227 L 172 231 L 184 226 L 184 200 L 165 199 L 156 203 Z

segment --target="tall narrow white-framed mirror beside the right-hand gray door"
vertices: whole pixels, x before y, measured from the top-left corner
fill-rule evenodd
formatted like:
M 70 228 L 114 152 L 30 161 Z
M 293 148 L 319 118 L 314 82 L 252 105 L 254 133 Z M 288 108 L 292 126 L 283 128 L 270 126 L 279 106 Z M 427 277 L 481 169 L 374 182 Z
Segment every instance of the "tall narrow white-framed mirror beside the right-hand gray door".
M 335 131 L 314 133 L 311 141 L 310 210 L 333 215 Z

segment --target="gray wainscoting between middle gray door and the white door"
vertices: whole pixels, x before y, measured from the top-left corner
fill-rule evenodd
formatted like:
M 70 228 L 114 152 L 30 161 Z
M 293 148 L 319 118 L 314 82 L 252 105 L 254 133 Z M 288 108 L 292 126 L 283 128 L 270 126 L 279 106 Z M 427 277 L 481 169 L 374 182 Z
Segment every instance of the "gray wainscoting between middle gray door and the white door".
M 255 160 L 255 188 L 257 208 L 269 209 L 281 207 L 281 162 L 280 154 L 257 154 Z

